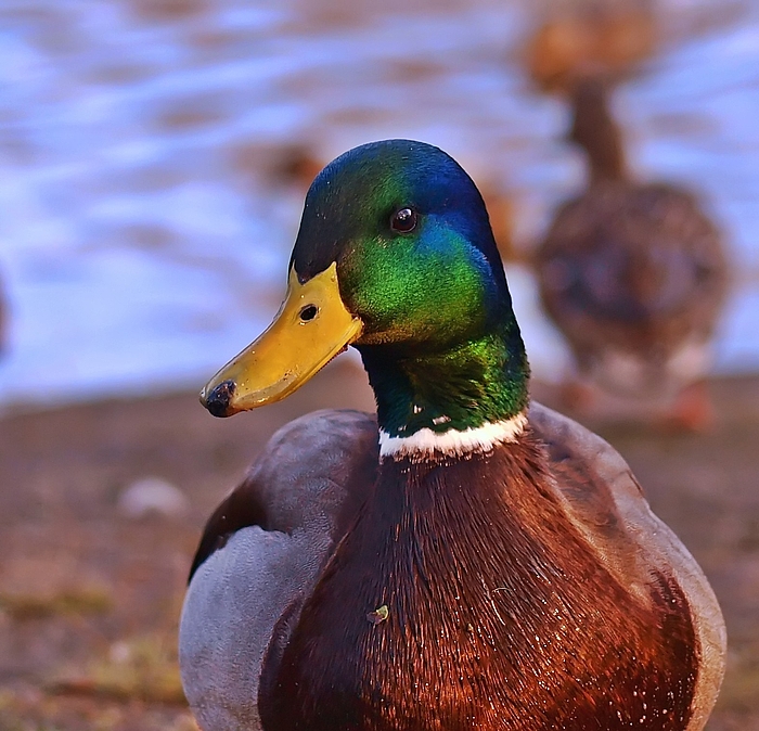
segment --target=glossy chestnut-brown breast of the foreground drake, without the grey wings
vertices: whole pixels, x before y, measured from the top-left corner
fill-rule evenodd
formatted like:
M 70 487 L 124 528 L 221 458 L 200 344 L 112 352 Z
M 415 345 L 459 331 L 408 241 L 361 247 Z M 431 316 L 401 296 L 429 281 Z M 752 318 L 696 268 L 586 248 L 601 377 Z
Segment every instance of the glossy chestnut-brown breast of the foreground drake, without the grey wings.
M 631 597 L 541 467 L 529 433 L 471 460 L 383 464 L 279 666 L 265 664 L 265 724 L 684 728 L 698 662 L 682 590 L 654 574 Z

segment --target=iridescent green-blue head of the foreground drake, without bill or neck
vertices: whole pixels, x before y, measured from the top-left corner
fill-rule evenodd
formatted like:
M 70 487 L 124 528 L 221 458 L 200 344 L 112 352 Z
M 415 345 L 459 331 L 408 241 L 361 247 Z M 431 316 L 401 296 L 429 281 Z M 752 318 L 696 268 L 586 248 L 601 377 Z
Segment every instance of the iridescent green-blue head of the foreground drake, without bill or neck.
M 313 181 L 292 264 L 307 280 L 333 261 L 360 344 L 438 350 L 511 310 L 479 191 L 421 142 L 356 148 Z

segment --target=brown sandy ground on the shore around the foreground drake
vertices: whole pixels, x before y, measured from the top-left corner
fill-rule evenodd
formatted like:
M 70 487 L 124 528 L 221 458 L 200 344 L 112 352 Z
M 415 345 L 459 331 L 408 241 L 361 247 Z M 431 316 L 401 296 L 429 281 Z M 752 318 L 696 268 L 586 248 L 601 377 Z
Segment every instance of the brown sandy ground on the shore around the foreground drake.
M 707 435 L 601 433 L 698 559 L 730 633 L 709 731 L 759 731 L 759 379 L 711 385 Z M 540 392 L 540 389 L 537 389 Z M 176 631 L 198 533 L 266 438 L 299 413 L 372 408 L 335 363 L 286 401 L 215 420 L 194 394 L 0 418 L 0 731 L 190 731 Z M 136 480 L 186 505 L 132 517 Z

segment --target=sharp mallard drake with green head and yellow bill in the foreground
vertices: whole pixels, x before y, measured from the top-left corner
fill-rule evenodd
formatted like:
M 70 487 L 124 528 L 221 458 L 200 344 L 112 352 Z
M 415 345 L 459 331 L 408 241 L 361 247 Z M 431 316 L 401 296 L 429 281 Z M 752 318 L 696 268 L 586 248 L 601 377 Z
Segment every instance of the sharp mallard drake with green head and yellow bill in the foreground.
M 180 628 L 201 727 L 703 729 L 717 600 L 619 454 L 530 405 L 488 214 L 437 148 L 319 174 L 279 315 L 202 402 L 285 398 L 348 345 L 376 418 L 286 425 L 206 525 Z

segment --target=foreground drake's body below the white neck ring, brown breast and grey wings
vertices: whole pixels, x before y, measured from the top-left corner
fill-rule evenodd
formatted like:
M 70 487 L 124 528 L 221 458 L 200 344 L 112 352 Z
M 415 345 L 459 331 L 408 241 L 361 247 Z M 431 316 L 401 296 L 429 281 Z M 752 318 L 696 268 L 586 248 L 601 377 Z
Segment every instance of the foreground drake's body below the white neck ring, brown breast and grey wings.
M 185 600 L 204 731 L 702 729 L 724 628 L 696 562 L 600 437 L 533 403 L 525 440 L 377 466 L 369 414 L 275 435 Z M 323 491 L 296 504 L 299 478 Z

